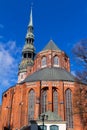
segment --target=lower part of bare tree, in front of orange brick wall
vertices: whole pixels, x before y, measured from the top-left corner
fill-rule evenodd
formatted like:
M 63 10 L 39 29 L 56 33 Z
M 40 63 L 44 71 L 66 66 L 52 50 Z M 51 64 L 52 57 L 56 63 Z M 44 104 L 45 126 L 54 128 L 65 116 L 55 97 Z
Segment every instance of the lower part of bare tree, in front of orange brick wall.
M 87 130 L 87 86 L 84 84 L 76 84 L 73 106 L 73 114 L 79 117 L 83 130 Z

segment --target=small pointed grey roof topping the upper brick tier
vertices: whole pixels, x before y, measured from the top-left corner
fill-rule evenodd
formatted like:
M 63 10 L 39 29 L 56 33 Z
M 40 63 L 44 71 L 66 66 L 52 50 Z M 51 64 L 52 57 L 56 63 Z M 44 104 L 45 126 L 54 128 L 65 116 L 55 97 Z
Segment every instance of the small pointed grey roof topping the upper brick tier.
M 45 46 L 45 48 L 42 51 L 44 51 L 44 50 L 57 50 L 57 51 L 61 51 L 52 40 L 50 40 L 48 42 L 48 44 Z

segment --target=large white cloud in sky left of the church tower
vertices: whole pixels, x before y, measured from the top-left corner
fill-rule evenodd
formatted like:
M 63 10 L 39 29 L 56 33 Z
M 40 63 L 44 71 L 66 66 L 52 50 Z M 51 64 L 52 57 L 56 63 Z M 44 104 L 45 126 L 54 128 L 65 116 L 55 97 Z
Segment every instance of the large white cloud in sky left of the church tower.
M 15 41 L 0 42 L 0 95 L 17 82 L 19 50 Z

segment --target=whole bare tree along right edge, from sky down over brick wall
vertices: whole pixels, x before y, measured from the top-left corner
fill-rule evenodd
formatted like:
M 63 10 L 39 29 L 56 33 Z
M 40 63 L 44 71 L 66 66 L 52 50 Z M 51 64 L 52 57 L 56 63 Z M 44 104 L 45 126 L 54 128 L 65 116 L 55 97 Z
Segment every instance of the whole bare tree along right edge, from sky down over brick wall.
M 75 87 L 73 113 L 79 115 L 83 130 L 87 130 L 87 39 L 75 44 L 73 54 L 79 65 L 76 71 L 79 84 Z

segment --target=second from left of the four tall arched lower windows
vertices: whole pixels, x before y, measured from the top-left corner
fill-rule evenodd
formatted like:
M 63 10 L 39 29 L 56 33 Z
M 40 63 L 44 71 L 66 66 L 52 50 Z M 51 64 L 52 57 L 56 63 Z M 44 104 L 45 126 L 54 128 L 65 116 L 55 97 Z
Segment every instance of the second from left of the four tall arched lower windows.
M 41 92 L 41 112 L 44 113 L 47 110 L 47 90 Z

